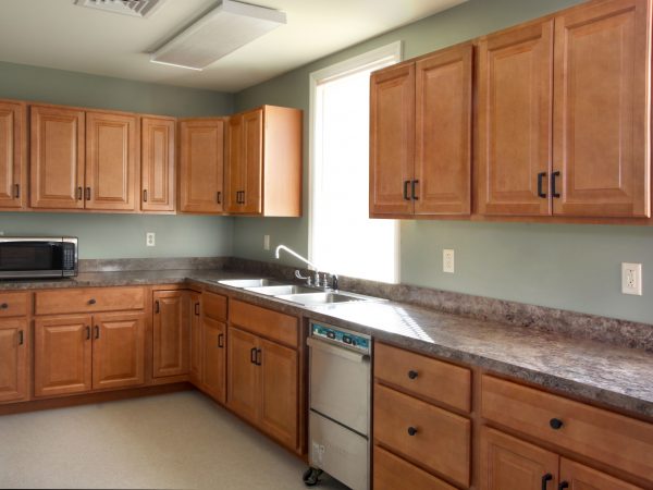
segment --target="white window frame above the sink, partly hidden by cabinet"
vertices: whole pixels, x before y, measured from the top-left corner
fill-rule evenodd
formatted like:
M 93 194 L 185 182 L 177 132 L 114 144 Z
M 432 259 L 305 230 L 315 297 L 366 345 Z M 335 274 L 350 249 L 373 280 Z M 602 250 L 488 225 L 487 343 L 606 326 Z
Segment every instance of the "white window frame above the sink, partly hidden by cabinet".
M 322 83 L 330 82 L 332 79 L 346 76 L 352 72 L 357 72 L 367 64 L 377 63 L 383 59 L 394 58 L 395 62 L 398 63 L 403 60 L 404 46 L 403 41 L 391 42 L 390 45 L 382 46 L 371 51 L 367 51 L 362 54 L 358 54 L 354 58 L 349 58 L 340 63 L 332 64 L 324 69 L 312 72 L 309 75 L 309 130 L 308 130 L 308 258 L 313 260 L 313 209 L 316 208 L 316 196 L 317 189 L 315 182 L 316 166 L 318 158 L 316 156 L 316 108 L 317 108 L 317 90 L 318 86 Z M 395 257 L 394 257 L 394 277 L 395 282 L 401 282 L 401 233 L 399 222 L 396 222 L 394 231 L 395 241 Z

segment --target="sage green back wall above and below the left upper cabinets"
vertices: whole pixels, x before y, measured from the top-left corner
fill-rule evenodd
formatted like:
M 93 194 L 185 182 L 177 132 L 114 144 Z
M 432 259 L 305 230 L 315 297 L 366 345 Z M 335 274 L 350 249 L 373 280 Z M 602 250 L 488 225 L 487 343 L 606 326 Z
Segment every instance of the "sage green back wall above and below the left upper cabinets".
M 234 97 L 0 62 L 0 98 L 175 117 L 233 112 Z M 233 219 L 202 216 L 0 212 L 0 231 L 79 237 L 82 258 L 212 257 L 232 254 Z M 145 233 L 157 246 L 145 246 Z

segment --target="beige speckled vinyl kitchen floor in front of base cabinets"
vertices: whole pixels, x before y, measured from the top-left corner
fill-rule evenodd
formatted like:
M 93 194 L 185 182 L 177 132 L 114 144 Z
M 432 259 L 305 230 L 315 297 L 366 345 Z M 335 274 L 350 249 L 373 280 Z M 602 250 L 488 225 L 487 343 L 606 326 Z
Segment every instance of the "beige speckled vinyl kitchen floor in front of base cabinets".
M 300 490 L 305 469 L 197 391 L 0 417 L 0 488 Z

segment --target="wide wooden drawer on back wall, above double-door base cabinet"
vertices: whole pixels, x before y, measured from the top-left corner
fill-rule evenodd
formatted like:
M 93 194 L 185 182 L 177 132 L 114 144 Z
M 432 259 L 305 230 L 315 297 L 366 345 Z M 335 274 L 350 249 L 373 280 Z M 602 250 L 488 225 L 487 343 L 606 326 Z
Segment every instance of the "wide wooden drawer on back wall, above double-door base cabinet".
M 143 287 L 85 287 L 39 291 L 35 294 L 36 315 L 116 311 L 145 308 Z

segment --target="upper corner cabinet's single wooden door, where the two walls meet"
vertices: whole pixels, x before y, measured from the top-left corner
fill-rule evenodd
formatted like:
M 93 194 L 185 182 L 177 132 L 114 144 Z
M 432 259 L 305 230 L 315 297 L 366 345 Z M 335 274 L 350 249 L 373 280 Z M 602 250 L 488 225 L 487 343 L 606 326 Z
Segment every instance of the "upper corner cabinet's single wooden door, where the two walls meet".
M 180 123 L 180 210 L 222 212 L 224 120 Z

